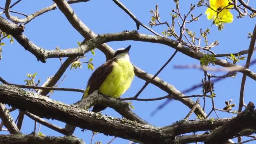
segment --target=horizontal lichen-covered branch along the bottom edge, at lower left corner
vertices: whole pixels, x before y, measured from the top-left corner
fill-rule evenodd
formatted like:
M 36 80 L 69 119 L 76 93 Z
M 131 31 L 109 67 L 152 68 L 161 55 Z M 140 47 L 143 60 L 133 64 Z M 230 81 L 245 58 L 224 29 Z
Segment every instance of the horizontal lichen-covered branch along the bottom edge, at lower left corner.
M 85 144 L 82 139 L 72 136 L 0 135 L 1 144 Z

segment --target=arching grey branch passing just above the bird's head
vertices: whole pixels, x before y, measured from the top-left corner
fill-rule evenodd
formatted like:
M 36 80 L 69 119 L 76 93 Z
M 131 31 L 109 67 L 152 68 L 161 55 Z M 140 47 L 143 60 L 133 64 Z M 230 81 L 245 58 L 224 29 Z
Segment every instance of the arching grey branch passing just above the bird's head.
M 104 34 L 104 35 L 98 35 L 95 39 L 89 40 L 85 44 L 81 45 L 78 48 L 74 49 L 65 49 L 65 50 L 53 50 L 53 51 L 47 51 L 44 50 L 45 53 L 43 53 L 44 56 L 50 56 L 50 57 L 59 57 L 61 56 L 74 56 L 74 55 L 83 55 L 84 53 L 90 51 L 92 48 L 95 48 L 99 46 L 101 43 L 107 43 L 110 41 L 123 41 L 123 40 L 136 40 L 136 41 L 144 41 L 144 42 L 151 42 L 151 43 L 160 43 L 164 45 L 168 45 L 172 48 L 175 48 L 176 50 L 180 51 L 181 53 L 184 53 L 187 56 L 190 56 L 194 59 L 200 60 L 205 54 L 201 52 L 195 52 L 184 45 L 179 44 L 175 40 L 168 39 L 166 37 L 157 37 L 152 35 L 145 35 L 145 34 L 139 34 L 137 32 L 121 32 L 121 33 L 115 33 L 115 34 Z M 38 54 L 38 53 L 37 53 Z M 226 60 L 222 59 L 216 59 L 215 64 L 220 65 L 222 67 L 234 67 L 239 72 L 242 72 L 243 74 L 247 75 L 248 77 L 251 77 L 253 80 L 256 80 L 256 73 L 252 72 L 250 69 L 244 68 L 239 65 L 232 64 Z

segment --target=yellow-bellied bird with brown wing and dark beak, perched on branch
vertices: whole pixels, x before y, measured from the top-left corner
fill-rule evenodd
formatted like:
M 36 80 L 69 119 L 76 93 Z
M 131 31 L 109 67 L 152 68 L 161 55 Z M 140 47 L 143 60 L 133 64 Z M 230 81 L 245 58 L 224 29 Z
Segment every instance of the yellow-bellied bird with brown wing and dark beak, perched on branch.
M 111 59 L 106 61 L 98 67 L 91 75 L 87 82 L 83 98 L 98 90 L 105 96 L 112 98 L 119 98 L 131 86 L 134 77 L 133 65 L 129 57 L 129 50 L 131 45 L 127 48 L 119 48 Z M 96 104 L 92 112 L 100 112 L 107 107 Z M 65 130 L 68 135 L 72 135 L 75 131 L 75 126 L 66 124 Z

